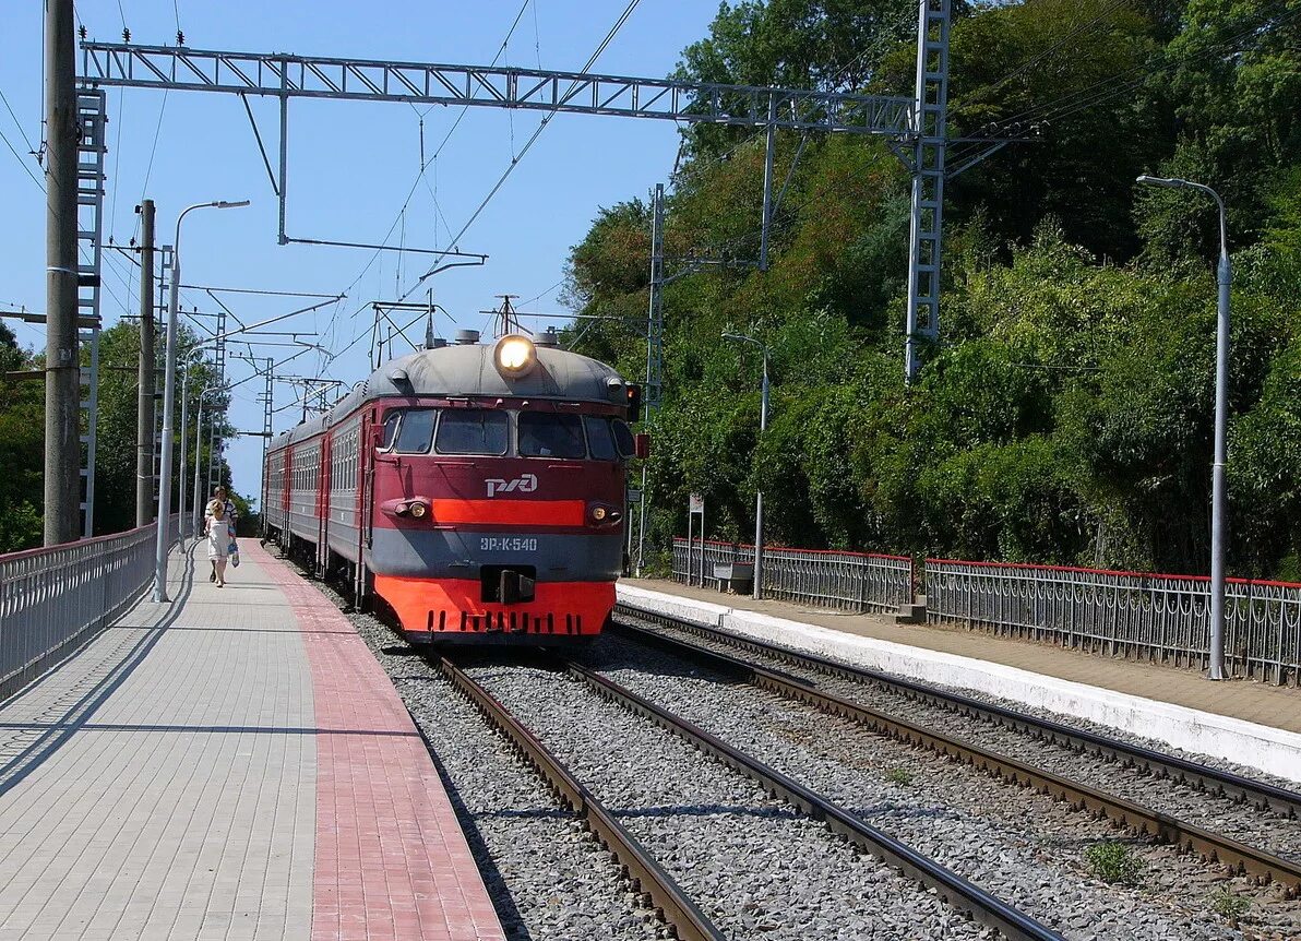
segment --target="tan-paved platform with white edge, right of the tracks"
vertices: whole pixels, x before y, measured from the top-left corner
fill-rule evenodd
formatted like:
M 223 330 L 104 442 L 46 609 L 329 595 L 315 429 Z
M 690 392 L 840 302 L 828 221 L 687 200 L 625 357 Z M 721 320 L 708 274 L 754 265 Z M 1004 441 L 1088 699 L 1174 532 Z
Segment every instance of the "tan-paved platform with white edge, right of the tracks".
M 861 666 L 974 690 L 1301 782 L 1301 690 L 1064 649 L 947 623 L 623 579 L 619 601 Z

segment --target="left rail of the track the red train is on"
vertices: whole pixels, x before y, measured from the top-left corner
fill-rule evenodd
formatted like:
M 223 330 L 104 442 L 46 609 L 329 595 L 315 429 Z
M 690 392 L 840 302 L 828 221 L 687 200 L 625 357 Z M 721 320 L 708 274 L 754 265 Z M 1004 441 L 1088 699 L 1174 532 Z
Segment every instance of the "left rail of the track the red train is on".
M 725 941 L 696 903 L 673 877 L 645 851 L 641 843 L 614 819 L 592 793 L 561 764 L 537 738 L 516 720 L 488 690 L 476 683 L 459 666 L 438 657 L 436 666 L 448 681 L 501 729 L 515 748 L 546 780 L 557 797 L 580 813 L 588 828 L 623 867 L 637 892 L 650 897 L 652 905 L 683 941 Z

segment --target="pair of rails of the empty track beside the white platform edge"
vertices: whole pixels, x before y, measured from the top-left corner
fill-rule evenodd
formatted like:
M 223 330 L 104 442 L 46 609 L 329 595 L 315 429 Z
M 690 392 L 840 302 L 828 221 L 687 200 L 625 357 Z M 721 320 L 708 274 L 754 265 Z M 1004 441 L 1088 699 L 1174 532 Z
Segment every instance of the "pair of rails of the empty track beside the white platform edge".
M 758 687 L 808 703 L 826 713 L 850 718 L 892 738 L 937 751 L 954 760 L 980 768 L 998 778 L 1034 787 L 1073 807 L 1103 813 L 1121 825 L 1149 833 L 1181 849 L 1198 852 L 1205 859 L 1235 867 L 1258 880 L 1278 882 L 1289 894 L 1294 895 L 1301 892 L 1301 864 L 1291 859 L 1249 846 L 1222 833 L 1207 830 L 1196 824 L 1151 810 L 1137 802 L 1108 794 L 1098 787 L 1067 778 L 1026 761 L 994 752 L 956 735 L 928 729 L 899 716 L 889 715 L 855 703 L 844 696 L 820 690 L 813 683 L 799 677 L 768 669 L 749 660 L 721 653 L 717 649 L 703 647 L 690 640 L 673 638 L 656 630 L 628 623 L 627 618 L 636 618 L 679 633 L 696 635 L 714 643 L 758 653 L 764 657 L 785 661 L 808 670 L 885 686 L 913 700 L 994 722 L 1015 731 L 1118 761 L 1146 773 L 1185 781 L 1209 793 L 1224 794 L 1235 800 L 1248 802 L 1275 813 L 1285 813 L 1293 819 L 1301 816 L 1301 794 L 1095 733 L 1072 729 L 1059 722 L 1042 720 L 959 694 L 850 666 L 817 655 L 791 651 L 752 638 L 742 638 L 718 629 L 705 627 L 664 614 L 643 612 L 626 605 L 619 605 L 617 614 L 624 620 L 615 623 L 615 634 L 658 647 L 678 657 L 705 662 L 727 673 L 740 673 L 748 682 Z

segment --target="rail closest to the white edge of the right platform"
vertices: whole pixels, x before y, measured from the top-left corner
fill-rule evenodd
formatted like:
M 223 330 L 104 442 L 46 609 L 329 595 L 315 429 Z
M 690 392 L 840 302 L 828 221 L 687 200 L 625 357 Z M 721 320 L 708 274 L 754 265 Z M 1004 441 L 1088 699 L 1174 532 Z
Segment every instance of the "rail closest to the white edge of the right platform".
M 816 653 L 795 651 L 779 644 L 766 643 L 756 638 L 742 636 L 718 627 L 683 621 L 680 618 L 658 614 L 656 612 L 641 610 L 640 608 L 619 604 L 615 607 L 617 614 L 641 618 L 652 623 L 660 623 L 674 630 L 686 631 L 697 636 L 704 636 L 718 643 L 729 644 L 739 649 L 761 653 L 777 660 L 796 664 L 805 669 L 818 670 L 844 679 L 866 682 L 889 689 L 911 699 L 937 705 L 958 712 L 964 716 L 981 718 L 995 725 L 1002 725 L 1013 731 L 1034 735 L 1053 744 L 1060 744 L 1080 752 L 1092 752 L 1123 765 L 1132 765 L 1158 776 L 1201 787 L 1211 794 L 1223 794 L 1232 800 L 1252 803 L 1261 810 L 1284 813 L 1293 819 L 1301 819 L 1301 793 L 1278 787 L 1275 785 L 1255 781 L 1241 774 L 1220 771 L 1209 765 L 1198 764 L 1176 755 L 1146 748 L 1140 744 L 1131 744 L 1118 738 L 1101 735 L 1085 729 L 1076 729 L 1049 718 L 1039 718 L 1025 712 L 1010 709 L 1007 707 L 986 703 L 980 699 L 964 696 L 959 692 L 947 692 L 925 683 L 892 677 L 877 670 L 861 666 L 851 666 Z

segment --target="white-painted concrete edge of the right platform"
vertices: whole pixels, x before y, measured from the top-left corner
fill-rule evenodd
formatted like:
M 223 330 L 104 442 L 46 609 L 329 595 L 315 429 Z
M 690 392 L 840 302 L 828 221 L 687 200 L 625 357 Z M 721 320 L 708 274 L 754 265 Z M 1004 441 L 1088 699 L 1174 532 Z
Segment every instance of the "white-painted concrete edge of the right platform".
M 1079 716 L 1176 748 L 1228 759 L 1301 782 L 1301 735 L 1284 729 L 636 586 L 618 584 L 618 599 L 645 610 L 842 657 L 865 668 Z

